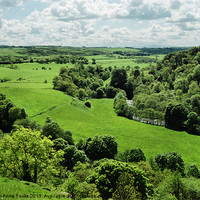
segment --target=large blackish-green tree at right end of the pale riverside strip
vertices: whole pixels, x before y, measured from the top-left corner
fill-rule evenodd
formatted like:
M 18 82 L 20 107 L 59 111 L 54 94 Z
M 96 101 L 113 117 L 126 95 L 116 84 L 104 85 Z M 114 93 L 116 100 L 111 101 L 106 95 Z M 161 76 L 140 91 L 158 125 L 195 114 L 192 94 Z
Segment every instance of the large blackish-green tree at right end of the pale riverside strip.
M 169 104 L 165 110 L 165 126 L 174 130 L 185 130 L 188 110 L 182 104 Z

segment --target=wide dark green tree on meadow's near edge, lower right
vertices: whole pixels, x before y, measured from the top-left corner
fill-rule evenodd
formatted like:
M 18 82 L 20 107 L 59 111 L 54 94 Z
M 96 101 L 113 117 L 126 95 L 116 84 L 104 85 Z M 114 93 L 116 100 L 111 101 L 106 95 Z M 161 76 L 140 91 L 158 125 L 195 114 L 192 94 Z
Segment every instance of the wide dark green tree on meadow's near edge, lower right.
M 155 162 L 161 170 L 170 169 L 184 174 L 184 161 L 181 158 L 181 155 L 176 152 L 158 154 L 155 157 Z

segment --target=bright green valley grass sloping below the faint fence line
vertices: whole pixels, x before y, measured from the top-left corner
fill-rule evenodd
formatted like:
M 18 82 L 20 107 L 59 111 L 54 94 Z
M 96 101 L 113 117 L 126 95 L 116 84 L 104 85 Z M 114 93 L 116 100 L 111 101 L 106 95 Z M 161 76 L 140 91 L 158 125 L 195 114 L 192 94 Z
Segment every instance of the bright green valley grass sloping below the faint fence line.
M 93 99 L 92 108 L 88 109 L 71 105 L 71 97 L 48 88 L 48 84 L 25 85 L 4 83 L 0 85 L 0 92 L 16 105 L 24 107 L 30 117 L 39 114 L 33 119 L 40 124 L 44 124 L 46 116 L 50 116 L 62 128 L 71 130 L 76 142 L 96 134 L 110 134 L 116 137 L 120 152 L 139 147 L 150 158 L 158 153 L 176 151 L 181 153 L 186 163 L 200 166 L 200 138 L 197 136 L 118 117 L 112 99 Z M 52 107 L 54 109 L 49 110 Z

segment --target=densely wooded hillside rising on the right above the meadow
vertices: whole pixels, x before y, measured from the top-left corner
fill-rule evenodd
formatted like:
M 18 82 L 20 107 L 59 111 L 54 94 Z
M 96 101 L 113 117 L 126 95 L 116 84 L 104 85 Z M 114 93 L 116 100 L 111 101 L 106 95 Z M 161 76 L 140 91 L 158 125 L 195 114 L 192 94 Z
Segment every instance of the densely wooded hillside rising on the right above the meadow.
M 132 94 L 134 118 L 148 123 L 165 120 L 167 128 L 200 134 L 200 47 L 170 53 L 156 65 L 133 68 L 128 74 L 127 81 L 117 86 L 126 92 L 124 98 L 116 96 L 114 107 L 118 115 L 130 116 L 126 97 L 129 99 Z

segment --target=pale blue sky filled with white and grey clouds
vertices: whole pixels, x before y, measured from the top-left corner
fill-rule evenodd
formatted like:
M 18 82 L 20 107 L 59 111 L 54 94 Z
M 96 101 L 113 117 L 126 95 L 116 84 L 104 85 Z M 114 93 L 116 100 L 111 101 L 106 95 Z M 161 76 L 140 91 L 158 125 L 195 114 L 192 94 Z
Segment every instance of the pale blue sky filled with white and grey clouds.
M 200 45 L 199 0 L 0 0 L 0 45 Z

